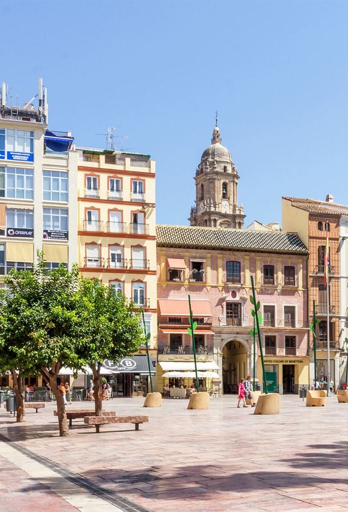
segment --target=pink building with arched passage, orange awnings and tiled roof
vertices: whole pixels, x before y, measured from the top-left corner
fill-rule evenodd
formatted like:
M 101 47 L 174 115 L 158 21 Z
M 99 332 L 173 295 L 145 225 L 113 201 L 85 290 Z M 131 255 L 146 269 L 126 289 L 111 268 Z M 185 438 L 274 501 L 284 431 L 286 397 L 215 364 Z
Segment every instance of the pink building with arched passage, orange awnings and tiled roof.
M 307 258 L 307 248 L 292 233 L 158 225 L 159 389 L 166 371 L 193 364 L 189 294 L 199 364 L 219 372 L 225 393 L 252 375 L 251 275 L 261 303 L 270 390 L 308 386 Z

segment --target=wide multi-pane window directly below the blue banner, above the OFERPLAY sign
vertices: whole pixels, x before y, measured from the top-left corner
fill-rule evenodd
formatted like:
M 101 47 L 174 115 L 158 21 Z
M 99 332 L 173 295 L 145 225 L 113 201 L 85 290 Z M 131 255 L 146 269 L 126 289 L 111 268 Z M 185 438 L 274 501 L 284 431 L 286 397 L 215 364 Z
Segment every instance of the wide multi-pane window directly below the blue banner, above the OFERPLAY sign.
M 0 197 L 33 199 L 33 169 L 0 167 Z

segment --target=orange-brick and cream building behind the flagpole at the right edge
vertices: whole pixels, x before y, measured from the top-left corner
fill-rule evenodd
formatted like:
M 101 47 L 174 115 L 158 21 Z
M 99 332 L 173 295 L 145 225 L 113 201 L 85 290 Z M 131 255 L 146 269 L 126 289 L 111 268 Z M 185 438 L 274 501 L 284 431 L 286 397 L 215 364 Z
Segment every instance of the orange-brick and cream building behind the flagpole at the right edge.
M 330 377 L 339 386 L 345 374 L 347 330 L 347 230 L 348 206 L 333 202 L 329 194 L 325 201 L 303 198 L 282 198 L 282 225 L 296 231 L 309 248 L 309 317 L 313 319 L 313 301 L 317 326 L 317 372 L 328 375 L 328 343 Z M 324 253 L 329 238 L 329 311 L 327 289 L 324 287 Z M 329 314 L 328 314 L 329 313 Z M 329 317 L 329 323 L 328 323 Z M 314 361 L 312 361 L 314 376 Z

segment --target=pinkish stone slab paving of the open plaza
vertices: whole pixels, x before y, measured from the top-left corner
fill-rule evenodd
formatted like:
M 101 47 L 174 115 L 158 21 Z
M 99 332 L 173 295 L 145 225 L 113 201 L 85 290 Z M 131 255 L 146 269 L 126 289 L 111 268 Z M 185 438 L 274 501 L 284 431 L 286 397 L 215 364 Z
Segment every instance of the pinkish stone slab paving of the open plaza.
M 23 424 L 1 408 L 0 434 L 14 442 L 0 443 L 0 474 L 24 476 L 13 489 L 0 485 L 0 512 L 34 510 L 28 505 L 33 493 L 42 494 L 51 512 L 348 509 L 348 404 L 335 396 L 324 408 L 282 396 L 277 416 L 237 409 L 235 396 L 211 399 L 207 411 L 188 411 L 187 400 L 162 403 L 143 409 L 142 398 L 104 402 L 120 415 L 146 414 L 149 423 L 139 432 L 123 424 L 102 426 L 96 434 L 77 421 L 68 438 L 58 436 L 54 404 L 29 411 Z M 68 409 L 77 407 L 86 402 Z M 16 446 L 22 450 L 18 461 Z M 72 475 L 83 477 L 81 488 Z

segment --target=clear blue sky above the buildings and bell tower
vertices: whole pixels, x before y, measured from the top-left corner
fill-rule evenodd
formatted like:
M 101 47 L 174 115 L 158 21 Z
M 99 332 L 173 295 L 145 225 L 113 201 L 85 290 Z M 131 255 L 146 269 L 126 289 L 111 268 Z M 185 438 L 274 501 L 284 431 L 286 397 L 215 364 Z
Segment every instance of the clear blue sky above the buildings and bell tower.
M 42 76 L 52 130 L 104 147 L 96 134 L 119 126 L 124 148 L 157 161 L 158 223 L 188 223 L 216 109 L 246 223 L 280 221 L 282 195 L 348 203 L 347 2 L 1 8 L 12 101 L 28 101 Z

